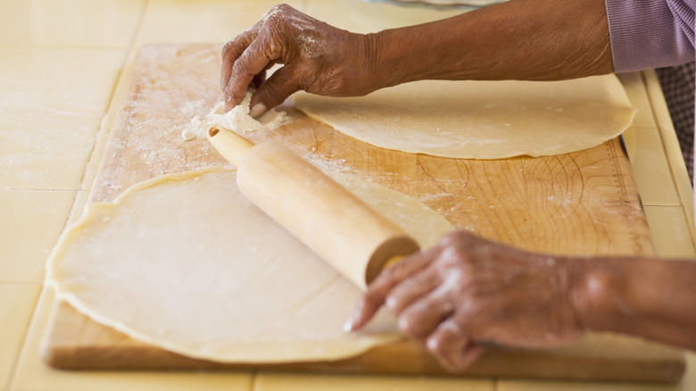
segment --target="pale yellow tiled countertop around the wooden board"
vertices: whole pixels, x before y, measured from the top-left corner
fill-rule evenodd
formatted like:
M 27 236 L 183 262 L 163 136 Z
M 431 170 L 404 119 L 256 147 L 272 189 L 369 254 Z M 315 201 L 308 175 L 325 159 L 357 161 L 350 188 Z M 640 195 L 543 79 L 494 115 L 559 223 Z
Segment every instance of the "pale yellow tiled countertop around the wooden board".
M 117 85 L 139 46 L 224 42 L 271 0 L 4 0 L 0 2 L 0 390 L 689 390 L 681 384 L 543 382 L 258 372 L 61 371 L 38 345 L 54 301 L 44 263 L 79 216 L 105 143 Z M 343 29 L 367 32 L 452 16 L 360 0 L 292 0 Z M 692 187 L 653 71 L 620 78 L 639 113 L 626 149 L 657 254 L 694 258 Z

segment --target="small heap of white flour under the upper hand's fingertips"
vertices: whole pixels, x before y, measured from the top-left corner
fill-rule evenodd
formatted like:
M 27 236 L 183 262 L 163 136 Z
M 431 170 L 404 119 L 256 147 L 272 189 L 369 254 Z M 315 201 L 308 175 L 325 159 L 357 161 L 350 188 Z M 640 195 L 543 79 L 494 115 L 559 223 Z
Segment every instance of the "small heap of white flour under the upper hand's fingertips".
M 244 134 L 246 132 L 276 129 L 288 121 L 286 112 L 277 112 L 273 109 L 261 115 L 258 120 L 254 120 L 249 115 L 249 103 L 252 100 L 252 93 L 253 91 L 247 91 L 242 103 L 237 104 L 229 112 L 225 112 L 225 103 L 219 102 L 205 117 L 196 115 L 191 120 L 191 125 L 181 132 L 181 137 L 185 140 L 205 137 L 205 131 L 210 125 L 218 125 L 236 133 Z

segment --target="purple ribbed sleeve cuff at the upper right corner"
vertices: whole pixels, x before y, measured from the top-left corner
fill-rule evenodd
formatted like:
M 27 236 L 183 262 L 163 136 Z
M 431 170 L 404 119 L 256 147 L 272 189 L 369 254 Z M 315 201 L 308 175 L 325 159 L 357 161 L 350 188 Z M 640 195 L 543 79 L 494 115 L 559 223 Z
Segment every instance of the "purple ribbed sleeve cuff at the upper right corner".
M 614 71 L 694 60 L 696 0 L 605 0 Z

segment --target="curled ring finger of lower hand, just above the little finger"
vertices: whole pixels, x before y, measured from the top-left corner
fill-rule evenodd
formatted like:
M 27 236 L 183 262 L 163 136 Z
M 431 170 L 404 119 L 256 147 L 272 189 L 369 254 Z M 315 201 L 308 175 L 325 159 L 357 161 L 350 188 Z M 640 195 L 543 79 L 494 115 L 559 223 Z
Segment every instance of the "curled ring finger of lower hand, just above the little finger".
M 398 317 L 399 329 L 422 340 L 432 334 L 435 328 L 454 312 L 454 304 L 443 297 L 427 295 L 406 307 Z

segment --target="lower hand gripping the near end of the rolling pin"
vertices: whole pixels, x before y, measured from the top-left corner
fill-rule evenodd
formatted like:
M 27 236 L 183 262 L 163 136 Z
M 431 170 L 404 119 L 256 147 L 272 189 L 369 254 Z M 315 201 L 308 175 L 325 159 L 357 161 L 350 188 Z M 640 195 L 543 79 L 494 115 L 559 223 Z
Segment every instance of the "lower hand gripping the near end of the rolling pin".
M 483 342 L 560 345 L 582 334 L 570 263 L 456 232 L 383 270 L 346 328 L 360 329 L 386 304 L 448 370 L 474 362 Z

